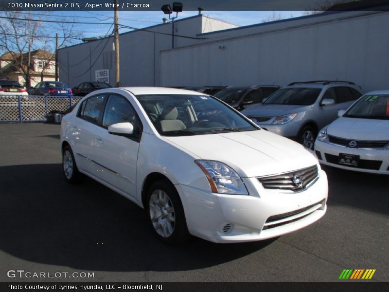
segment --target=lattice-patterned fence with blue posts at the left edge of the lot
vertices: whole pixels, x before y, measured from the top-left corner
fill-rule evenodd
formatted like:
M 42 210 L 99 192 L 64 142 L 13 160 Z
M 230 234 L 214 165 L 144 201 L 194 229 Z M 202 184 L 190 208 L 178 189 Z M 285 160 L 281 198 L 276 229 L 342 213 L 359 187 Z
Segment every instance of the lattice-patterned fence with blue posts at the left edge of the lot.
M 64 113 L 77 104 L 80 96 L 0 96 L 0 123 L 46 122 L 54 113 Z

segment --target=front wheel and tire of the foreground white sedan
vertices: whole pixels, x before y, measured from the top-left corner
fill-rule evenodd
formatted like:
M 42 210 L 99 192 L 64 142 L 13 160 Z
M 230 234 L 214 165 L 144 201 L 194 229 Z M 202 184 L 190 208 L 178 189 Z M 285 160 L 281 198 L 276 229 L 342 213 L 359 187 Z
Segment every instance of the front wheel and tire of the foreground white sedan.
M 151 185 L 146 213 L 154 234 L 163 243 L 176 245 L 189 239 L 184 209 L 172 183 L 159 180 Z

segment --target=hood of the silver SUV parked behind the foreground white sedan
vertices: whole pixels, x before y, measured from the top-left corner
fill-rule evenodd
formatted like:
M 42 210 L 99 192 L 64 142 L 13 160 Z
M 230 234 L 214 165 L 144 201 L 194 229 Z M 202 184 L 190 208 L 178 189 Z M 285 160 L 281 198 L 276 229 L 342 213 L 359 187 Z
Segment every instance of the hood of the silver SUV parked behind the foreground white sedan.
M 301 112 L 307 107 L 311 106 L 259 104 L 246 110 L 242 110 L 242 113 L 249 116 L 277 117 L 288 113 Z

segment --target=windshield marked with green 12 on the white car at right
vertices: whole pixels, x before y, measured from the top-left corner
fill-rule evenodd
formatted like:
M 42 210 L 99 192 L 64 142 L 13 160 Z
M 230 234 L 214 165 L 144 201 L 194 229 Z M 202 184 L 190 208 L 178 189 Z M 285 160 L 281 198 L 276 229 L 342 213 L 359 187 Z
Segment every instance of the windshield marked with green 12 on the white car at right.
M 343 116 L 389 120 L 389 94 L 364 95 Z

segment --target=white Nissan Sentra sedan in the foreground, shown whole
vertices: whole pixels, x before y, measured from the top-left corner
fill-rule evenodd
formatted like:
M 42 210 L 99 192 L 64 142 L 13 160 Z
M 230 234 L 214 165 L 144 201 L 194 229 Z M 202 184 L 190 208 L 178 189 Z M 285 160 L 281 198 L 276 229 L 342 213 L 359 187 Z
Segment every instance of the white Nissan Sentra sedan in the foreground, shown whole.
M 303 146 L 200 92 L 94 91 L 61 124 L 63 169 L 146 209 L 166 243 L 278 237 L 326 212 L 327 176 Z

